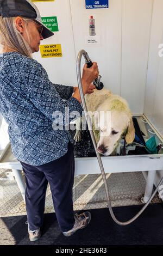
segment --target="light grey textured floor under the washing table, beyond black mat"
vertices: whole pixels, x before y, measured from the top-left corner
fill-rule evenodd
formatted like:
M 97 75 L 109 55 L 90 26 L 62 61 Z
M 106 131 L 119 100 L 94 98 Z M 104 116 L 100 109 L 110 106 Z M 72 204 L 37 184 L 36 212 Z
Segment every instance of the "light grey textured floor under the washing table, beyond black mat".
M 0 217 L 26 215 L 26 205 L 15 180 L 5 180 L 11 170 L 0 169 Z M 112 206 L 142 204 L 146 181 L 141 172 L 106 174 Z M 73 186 L 74 210 L 106 208 L 106 195 L 101 174 L 79 175 Z M 162 202 L 158 194 L 152 203 Z M 54 212 L 49 186 L 45 213 Z M 109 214 L 109 210 L 108 210 Z M 14 237 L 0 218 L 0 245 L 15 245 Z

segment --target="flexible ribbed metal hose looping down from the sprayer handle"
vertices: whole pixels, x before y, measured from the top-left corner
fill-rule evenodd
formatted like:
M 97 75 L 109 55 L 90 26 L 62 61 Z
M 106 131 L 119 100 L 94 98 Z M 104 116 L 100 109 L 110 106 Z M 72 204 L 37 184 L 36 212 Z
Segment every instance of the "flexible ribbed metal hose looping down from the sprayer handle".
M 103 163 L 102 163 L 102 160 L 101 160 L 101 156 L 99 155 L 99 153 L 97 151 L 96 140 L 95 140 L 95 136 L 94 136 L 93 131 L 92 131 L 92 121 L 91 121 L 91 118 L 90 118 L 89 114 L 87 114 L 87 107 L 86 107 L 86 103 L 85 103 L 85 99 L 84 99 L 84 93 L 83 93 L 83 87 L 82 87 L 82 78 L 81 78 L 81 71 L 80 71 L 82 56 L 84 56 L 84 57 L 87 56 L 87 58 L 88 58 L 87 52 L 84 51 L 84 50 L 81 50 L 78 53 L 78 57 L 77 57 L 77 79 L 78 79 L 79 92 L 80 92 L 80 97 L 81 97 L 81 100 L 82 100 L 82 105 L 83 105 L 83 109 L 84 109 L 85 118 L 86 118 L 87 125 L 88 125 L 89 131 L 90 131 L 91 139 L 92 139 L 92 142 L 93 142 L 93 147 L 95 148 L 97 160 L 98 160 L 98 163 L 99 163 L 99 167 L 101 169 L 101 173 L 102 173 L 102 177 L 103 177 L 103 181 L 104 181 L 104 186 L 105 186 L 106 198 L 107 198 L 107 202 L 108 202 L 108 208 L 109 208 L 110 215 L 111 215 L 112 219 L 118 225 L 128 225 L 128 224 L 132 223 L 133 221 L 135 221 L 142 214 L 142 212 L 147 208 L 148 204 L 151 202 L 151 200 L 154 198 L 156 192 L 158 191 L 159 186 L 162 184 L 163 178 L 160 180 L 159 185 L 156 187 L 155 191 L 153 192 L 152 196 L 149 198 L 148 202 L 142 207 L 142 209 L 133 218 L 131 218 L 129 221 L 126 221 L 126 222 L 121 222 L 121 221 L 117 220 L 117 218 L 114 215 L 114 212 L 112 211 L 111 200 L 110 200 L 110 195 L 109 195 L 108 184 L 107 184 L 107 181 L 106 181 L 105 171 L 104 171 Z

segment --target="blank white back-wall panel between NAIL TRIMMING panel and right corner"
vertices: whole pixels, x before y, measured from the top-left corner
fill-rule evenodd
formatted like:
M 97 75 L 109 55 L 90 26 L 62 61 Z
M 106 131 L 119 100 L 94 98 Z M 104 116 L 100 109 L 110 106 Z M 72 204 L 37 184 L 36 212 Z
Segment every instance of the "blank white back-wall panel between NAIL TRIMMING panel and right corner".
M 122 0 L 121 95 L 143 113 L 153 0 Z

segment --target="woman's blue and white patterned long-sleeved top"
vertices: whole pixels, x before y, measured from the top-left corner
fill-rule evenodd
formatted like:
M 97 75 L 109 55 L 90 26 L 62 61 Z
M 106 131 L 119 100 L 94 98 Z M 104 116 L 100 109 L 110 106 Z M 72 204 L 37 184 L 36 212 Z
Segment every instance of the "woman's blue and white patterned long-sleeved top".
M 65 118 L 69 107 L 82 115 L 80 102 L 71 97 L 73 87 L 53 84 L 41 64 L 17 52 L 0 54 L 0 77 L 0 112 L 17 160 L 39 166 L 65 155 L 73 140 L 66 129 L 54 130 L 53 113 Z

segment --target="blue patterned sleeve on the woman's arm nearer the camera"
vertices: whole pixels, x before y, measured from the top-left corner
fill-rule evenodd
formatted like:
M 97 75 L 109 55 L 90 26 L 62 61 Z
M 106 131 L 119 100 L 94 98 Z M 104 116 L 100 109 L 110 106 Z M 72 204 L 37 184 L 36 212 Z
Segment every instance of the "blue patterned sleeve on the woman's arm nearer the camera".
M 82 116 L 82 105 L 74 97 L 62 100 L 45 69 L 36 61 L 28 65 L 25 74 L 27 96 L 35 107 L 54 123 L 62 126 Z

